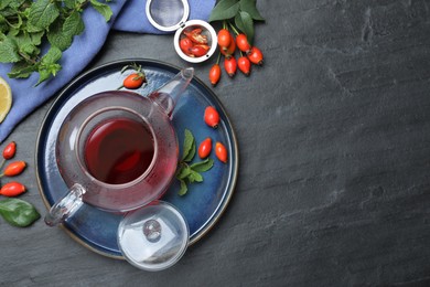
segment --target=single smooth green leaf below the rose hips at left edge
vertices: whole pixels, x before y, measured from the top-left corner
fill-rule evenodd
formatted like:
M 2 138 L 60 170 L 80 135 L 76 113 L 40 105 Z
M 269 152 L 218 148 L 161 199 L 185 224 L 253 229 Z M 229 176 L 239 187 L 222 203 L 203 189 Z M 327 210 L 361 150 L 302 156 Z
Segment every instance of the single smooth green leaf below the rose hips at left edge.
M 29 226 L 41 217 L 31 203 L 20 199 L 0 201 L 0 215 L 8 223 L 18 227 Z

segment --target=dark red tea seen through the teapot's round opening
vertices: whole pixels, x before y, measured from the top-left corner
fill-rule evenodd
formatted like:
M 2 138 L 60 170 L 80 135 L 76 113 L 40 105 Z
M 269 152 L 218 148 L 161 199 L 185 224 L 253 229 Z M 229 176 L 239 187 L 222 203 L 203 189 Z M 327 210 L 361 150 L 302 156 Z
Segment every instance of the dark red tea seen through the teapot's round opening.
M 93 177 L 110 184 L 130 182 L 151 164 L 152 132 L 142 123 L 111 118 L 100 123 L 85 144 L 85 163 Z

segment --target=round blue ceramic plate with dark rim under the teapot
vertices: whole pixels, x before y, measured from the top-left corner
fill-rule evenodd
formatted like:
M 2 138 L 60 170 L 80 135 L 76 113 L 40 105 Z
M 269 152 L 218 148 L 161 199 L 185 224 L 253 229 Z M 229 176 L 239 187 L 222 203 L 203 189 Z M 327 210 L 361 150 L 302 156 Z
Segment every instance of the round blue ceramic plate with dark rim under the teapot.
M 121 68 L 133 62 L 140 64 L 147 74 L 148 85 L 137 91 L 142 95 L 157 89 L 180 71 L 172 65 L 142 59 L 108 63 L 73 81 L 60 93 L 47 111 L 39 132 L 35 155 L 39 189 L 46 208 L 51 208 L 67 192 L 55 158 L 56 136 L 61 124 L 80 100 L 99 92 L 118 88 L 125 77 L 120 73 Z M 219 111 L 222 123 L 217 129 L 209 128 L 203 121 L 204 109 L 208 105 L 215 106 Z M 184 214 L 190 226 L 190 244 L 193 244 L 207 234 L 227 208 L 236 184 L 238 147 L 223 105 L 196 77 L 179 100 L 172 124 L 176 129 L 181 155 L 185 128 L 193 132 L 197 145 L 206 137 L 212 137 L 214 142 L 224 142 L 229 155 L 228 163 L 225 164 L 212 153 L 214 167 L 202 173 L 204 181 L 191 184 L 185 195 L 178 195 L 179 183 L 174 180 L 162 198 Z M 196 158 L 194 160 L 198 160 Z M 84 204 L 63 227 L 74 240 L 92 251 L 108 257 L 122 258 L 117 244 L 117 227 L 121 219 L 120 214 Z

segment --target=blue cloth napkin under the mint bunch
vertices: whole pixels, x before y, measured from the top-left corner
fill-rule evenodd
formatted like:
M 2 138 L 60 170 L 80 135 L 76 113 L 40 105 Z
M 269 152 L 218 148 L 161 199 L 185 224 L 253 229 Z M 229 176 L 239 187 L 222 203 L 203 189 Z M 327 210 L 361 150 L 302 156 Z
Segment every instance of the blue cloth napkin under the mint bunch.
M 11 65 L 0 64 L 0 76 L 8 81 L 12 88 L 13 104 L 6 119 L 0 124 L 0 142 L 2 142 L 13 128 L 30 113 L 36 109 L 77 76 L 94 59 L 104 45 L 110 29 L 136 33 L 164 33 L 153 28 L 146 15 L 147 0 L 116 0 L 109 2 L 114 15 L 109 22 L 93 8 L 83 13 L 85 31 L 74 38 L 69 49 L 63 53 L 61 65 L 63 70 L 50 81 L 39 86 L 39 74 L 33 73 L 26 79 L 8 77 Z M 189 0 L 190 17 L 192 19 L 208 20 L 215 0 Z

